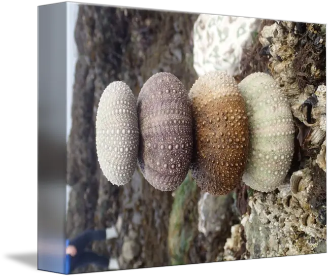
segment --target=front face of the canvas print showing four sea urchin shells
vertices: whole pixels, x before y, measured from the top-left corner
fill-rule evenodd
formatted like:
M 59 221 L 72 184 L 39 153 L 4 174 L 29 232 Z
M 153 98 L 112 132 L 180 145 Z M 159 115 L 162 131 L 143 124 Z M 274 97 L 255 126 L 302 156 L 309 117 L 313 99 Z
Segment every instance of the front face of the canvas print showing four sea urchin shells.
M 324 24 L 69 5 L 68 273 L 326 253 Z

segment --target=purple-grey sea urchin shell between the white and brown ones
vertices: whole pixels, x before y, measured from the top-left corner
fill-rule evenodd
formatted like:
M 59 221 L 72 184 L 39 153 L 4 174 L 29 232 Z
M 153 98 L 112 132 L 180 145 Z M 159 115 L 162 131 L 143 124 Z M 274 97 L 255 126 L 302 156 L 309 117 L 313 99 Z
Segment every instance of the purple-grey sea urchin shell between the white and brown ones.
M 188 93 L 170 73 L 157 73 L 137 101 L 140 149 L 145 179 L 161 191 L 175 190 L 186 178 L 192 155 L 192 116 Z

